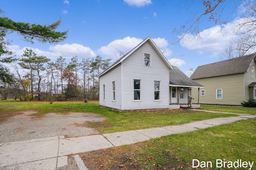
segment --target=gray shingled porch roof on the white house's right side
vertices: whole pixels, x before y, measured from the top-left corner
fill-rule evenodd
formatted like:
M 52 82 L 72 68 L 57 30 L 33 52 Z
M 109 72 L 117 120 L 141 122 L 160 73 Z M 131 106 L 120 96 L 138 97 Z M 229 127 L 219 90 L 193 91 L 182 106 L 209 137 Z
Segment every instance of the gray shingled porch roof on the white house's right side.
M 180 87 L 204 87 L 198 82 L 191 80 L 186 76 L 178 67 L 172 66 L 173 69 L 170 69 L 170 85 L 180 86 Z

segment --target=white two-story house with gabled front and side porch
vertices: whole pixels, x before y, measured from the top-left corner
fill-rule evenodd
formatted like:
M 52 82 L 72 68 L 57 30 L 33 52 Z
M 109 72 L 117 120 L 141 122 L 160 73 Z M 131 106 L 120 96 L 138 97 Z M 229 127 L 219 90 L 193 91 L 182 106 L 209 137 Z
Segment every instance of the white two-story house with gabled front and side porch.
M 171 66 L 150 37 L 102 72 L 99 86 L 100 105 L 120 110 L 179 108 L 189 88 L 203 87 Z

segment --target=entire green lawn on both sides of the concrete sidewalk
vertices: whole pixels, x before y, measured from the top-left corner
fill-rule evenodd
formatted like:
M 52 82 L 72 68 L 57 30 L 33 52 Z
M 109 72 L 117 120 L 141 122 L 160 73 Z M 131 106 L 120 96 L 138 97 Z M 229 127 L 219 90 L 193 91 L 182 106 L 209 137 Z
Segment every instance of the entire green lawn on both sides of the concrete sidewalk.
M 255 108 L 248 107 L 204 105 L 201 108 L 212 111 L 255 114 Z M 234 114 L 207 113 L 183 109 L 120 112 L 101 107 L 97 101 L 90 101 L 88 104 L 83 102 L 54 102 L 49 104 L 48 102 L 34 101 L 0 101 L 0 118 L 8 118 L 25 110 L 37 110 L 38 113 L 34 114 L 37 116 L 43 116 L 50 112 L 96 113 L 106 117 L 106 121 L 90 123 L 89 126 L 98 128 L 102 134 L 178 125 L 215 117 L 235 116 Z M 255 161 L 255 141 L 256 119 L 247 119 L 188 133 L 168 135 L 133 145 L 81 153 L 80 156 L 89 169 L 95 170 L 187 170 L 191 169 L 192 159 L 211 161 L 212 168 L 199 168 L 209 170 L 217 169 L 214 167 L 216 166 L 216 159 L 232 162 L 237 161 L 237 159 L 250 162 Z M 256 165 L 253 166 L 252 170 L 255 169 Z

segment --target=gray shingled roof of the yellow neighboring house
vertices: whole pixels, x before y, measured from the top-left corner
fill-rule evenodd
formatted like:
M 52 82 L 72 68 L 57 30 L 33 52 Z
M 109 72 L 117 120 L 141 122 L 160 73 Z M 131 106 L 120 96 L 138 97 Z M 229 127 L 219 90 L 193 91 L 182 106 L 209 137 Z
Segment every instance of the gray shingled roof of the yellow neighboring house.
M 247 72 L 255 55 L 256 53 L 198 66 L 190 78 L 194 80 L 199 78 L 245 73 Z

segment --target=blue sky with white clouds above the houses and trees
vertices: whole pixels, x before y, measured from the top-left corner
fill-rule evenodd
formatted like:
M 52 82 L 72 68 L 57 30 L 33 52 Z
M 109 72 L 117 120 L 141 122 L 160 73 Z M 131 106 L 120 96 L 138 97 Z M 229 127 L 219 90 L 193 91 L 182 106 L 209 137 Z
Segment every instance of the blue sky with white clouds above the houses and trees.
M 57 31 L 69 30 L 68 38 L 57 44 L 30 44 L 17 33 L 8 34 L 7 38 L 12 40 L 10 48 L 17 58 L 25 48 L 31 48 L 38 56 L 44 55 L 53 62 L 60 55 L 67 63 L 73 56 L 82 61 L 97 55 L 114 62 L 120 57 L 118 51 L 126 54 L 150 36 L 165 57 L 184 73 L 220 61 L 226 43 L 234 36 L 234 21 L 239 19 L 236 8 L 221 34 L 220 26 L 205 18 L 200 23 L 201 39 L 185 37 L 175 43 L 181 34 L 173 33 L 173 29 L 186 25 L 198 5 L 183 9 L 178 0 L 0 0 L 0 8 L 5 12 L 2 16 L 42 25 L 61 17 Z

